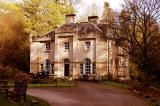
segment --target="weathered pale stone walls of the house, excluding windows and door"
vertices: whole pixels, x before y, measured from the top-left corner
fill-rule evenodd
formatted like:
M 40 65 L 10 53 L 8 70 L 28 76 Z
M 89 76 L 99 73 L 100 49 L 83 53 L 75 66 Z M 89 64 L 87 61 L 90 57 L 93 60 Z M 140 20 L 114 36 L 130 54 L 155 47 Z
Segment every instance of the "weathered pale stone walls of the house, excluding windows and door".
M 77 26 L 77 25 L 76 25 Z M 71 32 L 61 32 L 57 30 L 54 38 L 44 40 L 36 38 L 31 42 L 30 72 L 40 72 L 41 64 L 45 70 L 46 60 L 54 64 L 55 77 L 64 77 L 65 60 L 69 62 L 69 76 L 82 78 L 80 75 L 80 64 L 83 64 L 83 74 L 85 74 L 85 61 L 89 59 L 90 77 L 92 78 L 92 64 L 96 64 L 96 74 L 98 76 L 109 75 L 116 79 L 124 76 L 128 78 L 128 55 L 120 49 L 113 40 L 106 40 L 100 33 L 89 32 L 87 34 L 75 33 L 77 28 Z M 64 43 L 69 42 L 69 50 L 65 50 Z M 89 50 L 85 47 L 85 42 L 90 42 Z M 46 51 L 46 43 L 50 43 L 50 50 Z M 124 66 L 124 64 L 126 66 Z M 50 66 L 51 74 L 51 66 Z

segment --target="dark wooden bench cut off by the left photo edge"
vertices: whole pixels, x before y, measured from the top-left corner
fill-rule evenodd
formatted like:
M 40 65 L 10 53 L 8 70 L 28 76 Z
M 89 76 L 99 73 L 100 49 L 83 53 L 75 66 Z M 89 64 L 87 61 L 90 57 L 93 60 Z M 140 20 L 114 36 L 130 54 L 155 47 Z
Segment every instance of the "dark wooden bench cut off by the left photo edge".
M 9 89 L 9 87 L 8 87 L 8 81 L 6 81 L 6 80 L 0 80 L 0 91 L 2 91 L 2 92 L 0 92 L 1 94 L 6 94 L 6 96 L 8 96 L 8 89 Z

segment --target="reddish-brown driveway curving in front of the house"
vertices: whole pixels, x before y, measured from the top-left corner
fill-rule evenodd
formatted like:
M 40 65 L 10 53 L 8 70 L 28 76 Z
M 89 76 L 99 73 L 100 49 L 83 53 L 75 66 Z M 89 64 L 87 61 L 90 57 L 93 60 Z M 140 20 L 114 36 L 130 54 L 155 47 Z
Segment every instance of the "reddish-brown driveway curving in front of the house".
M 78 87 L 29 88 L 27 94 L 51 106 L 149 106 L 123 89 L 91 82 L 78 82 Z

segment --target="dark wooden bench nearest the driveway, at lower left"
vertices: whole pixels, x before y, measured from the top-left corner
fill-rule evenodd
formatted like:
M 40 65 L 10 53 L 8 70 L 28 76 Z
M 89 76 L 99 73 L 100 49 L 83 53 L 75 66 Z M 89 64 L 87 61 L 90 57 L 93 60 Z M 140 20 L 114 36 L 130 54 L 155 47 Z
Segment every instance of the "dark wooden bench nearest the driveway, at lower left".
M 25 102 L 26 101 L 26 91 L 27 91 L 27 83 L 15 82 L 14 89 L 9 89 L 8 93 L 11 94 L 11 96 L 15 98 L 16 102 L 20 101 L 21 96 L 23 96 L 24 102 Z

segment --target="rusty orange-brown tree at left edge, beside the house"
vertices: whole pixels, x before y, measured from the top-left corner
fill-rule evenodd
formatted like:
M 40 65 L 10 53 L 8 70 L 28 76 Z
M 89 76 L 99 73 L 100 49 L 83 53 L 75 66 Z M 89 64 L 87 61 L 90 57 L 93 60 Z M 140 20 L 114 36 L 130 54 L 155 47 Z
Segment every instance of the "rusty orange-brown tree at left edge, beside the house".
M 29 72 L 29 43 L 24 20 L 14 13 L 0 12 L 0 65 Z

